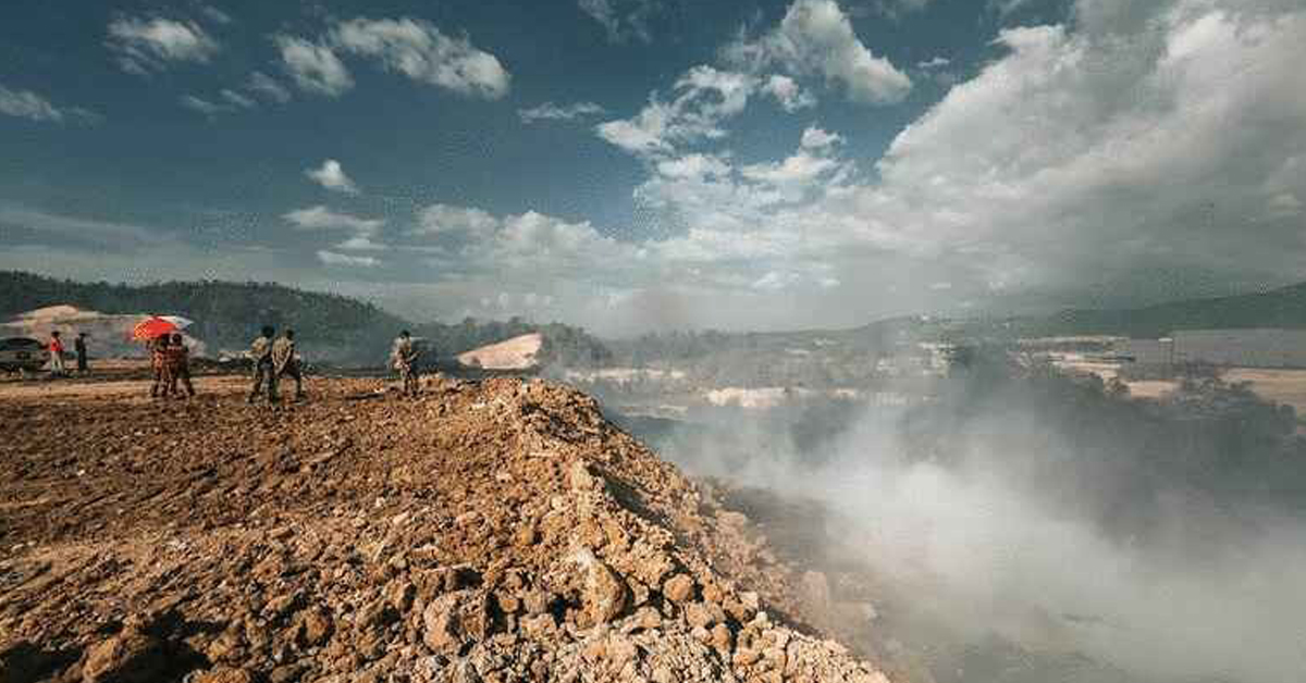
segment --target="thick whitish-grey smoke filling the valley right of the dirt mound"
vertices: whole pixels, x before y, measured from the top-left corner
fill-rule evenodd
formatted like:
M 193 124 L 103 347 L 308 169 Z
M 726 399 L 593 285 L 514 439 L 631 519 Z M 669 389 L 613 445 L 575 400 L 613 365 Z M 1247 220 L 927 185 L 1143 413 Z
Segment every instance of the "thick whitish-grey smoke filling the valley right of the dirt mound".
M 1246 390 L 1158 405 L 968 376 L 916 407 L 727 422 L 657 443 L 818 501 L 810 535 L 876 576 L 882 636 L 935 648 L 939 682 L 1306 676 L 1306 460 L 1294 418 Z

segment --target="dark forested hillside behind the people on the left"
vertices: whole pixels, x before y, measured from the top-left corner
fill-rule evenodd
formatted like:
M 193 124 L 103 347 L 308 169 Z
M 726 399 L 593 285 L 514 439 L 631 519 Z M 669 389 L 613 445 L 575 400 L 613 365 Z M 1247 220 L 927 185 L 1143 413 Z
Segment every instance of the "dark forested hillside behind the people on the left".
M 597 364 L 610 354 L 580 328 L 521 319 L 507 323 L 466 319 L 457 324 L 415 324 L 358 299 L 303 291 L 263 282 L 161 282 L 131 286 L 74 282 L 31 273 L 0 270 L 0 320 L 55 304 L 102 313 L 182 315 L 196 321 L 187 332 L 210 354 L 242 350 L 263 325 L 296 332 L 304 355 L 315 362 L 381 366 L 401 329 L 430 338 L 440 355 L 541 332 L 545 364 Z

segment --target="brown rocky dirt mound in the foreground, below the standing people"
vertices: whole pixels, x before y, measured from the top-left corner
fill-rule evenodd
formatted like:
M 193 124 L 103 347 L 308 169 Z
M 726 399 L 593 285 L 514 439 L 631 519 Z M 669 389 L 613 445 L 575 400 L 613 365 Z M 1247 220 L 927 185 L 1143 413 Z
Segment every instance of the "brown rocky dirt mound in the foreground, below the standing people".
M 0 680 L 884 680 L 592 398 L 313 387 L 0 402 Z

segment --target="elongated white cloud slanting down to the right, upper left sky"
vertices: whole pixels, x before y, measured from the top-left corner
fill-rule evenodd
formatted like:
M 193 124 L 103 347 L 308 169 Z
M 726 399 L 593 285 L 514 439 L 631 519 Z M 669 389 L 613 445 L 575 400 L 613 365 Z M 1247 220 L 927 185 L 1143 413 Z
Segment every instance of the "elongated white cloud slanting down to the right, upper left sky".
M 494 55 L 466 38 L 452 38 L 427 21 L 354 18 L 336 25 L 340 50 L 375 57 L 418 82 L 486 99 L 508 94 L 512 81 Z

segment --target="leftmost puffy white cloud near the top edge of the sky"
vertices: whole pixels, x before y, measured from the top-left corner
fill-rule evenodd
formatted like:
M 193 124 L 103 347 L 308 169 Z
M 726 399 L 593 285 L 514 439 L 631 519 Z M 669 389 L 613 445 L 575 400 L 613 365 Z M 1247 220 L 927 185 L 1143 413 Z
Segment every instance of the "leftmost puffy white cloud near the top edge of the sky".
M 174 61 L 206 64 L 222 46 L 193 21 L 119 17 L 108 24 L 110 51 L 123 71 L 145 76 Z

